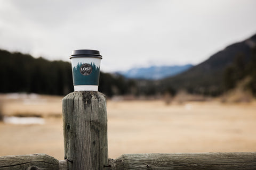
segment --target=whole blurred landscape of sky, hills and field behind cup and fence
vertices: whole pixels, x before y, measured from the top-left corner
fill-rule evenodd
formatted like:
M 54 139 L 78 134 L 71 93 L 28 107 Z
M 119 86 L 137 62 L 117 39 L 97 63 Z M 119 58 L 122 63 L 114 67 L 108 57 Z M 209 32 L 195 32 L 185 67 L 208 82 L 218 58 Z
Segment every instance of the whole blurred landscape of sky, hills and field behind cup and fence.
M 255 151 L 255 1 L 0 0 L 0 156 L 63 159 L 69 56 L 103 56 L 109 157 Z

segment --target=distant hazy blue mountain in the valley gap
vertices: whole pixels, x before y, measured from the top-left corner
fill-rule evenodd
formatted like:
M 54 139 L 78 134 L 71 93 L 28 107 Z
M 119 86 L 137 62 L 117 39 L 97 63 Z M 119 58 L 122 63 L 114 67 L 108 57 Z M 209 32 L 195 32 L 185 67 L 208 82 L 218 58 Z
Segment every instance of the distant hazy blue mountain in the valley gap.
M 147 68 L 133 68 L 123 72 L 117 72 L 126 78 L 130 79 L 148 79 L 159 80 L 166 77 L 179 74 L 183 71 L 190 69 L 193 65 L 174 65 L 174 66 L 151 66 Z

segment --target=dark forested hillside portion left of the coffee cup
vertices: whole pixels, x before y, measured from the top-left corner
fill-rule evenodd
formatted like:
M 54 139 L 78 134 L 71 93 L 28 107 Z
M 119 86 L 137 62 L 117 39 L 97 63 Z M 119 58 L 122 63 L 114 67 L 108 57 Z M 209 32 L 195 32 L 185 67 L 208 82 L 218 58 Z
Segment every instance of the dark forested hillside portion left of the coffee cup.
M 0 49 L 0 92 L 66 95 L 73 91 L 71 64 Z

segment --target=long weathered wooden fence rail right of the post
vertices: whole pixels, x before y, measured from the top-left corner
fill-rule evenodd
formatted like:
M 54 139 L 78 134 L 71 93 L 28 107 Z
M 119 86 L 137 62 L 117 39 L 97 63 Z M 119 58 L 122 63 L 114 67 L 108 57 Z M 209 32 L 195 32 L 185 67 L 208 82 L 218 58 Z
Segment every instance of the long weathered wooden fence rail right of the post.
M 256 152 L 124 154 L 109 169 L 256 169 Z

